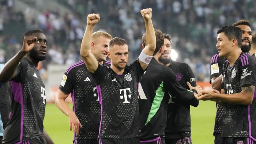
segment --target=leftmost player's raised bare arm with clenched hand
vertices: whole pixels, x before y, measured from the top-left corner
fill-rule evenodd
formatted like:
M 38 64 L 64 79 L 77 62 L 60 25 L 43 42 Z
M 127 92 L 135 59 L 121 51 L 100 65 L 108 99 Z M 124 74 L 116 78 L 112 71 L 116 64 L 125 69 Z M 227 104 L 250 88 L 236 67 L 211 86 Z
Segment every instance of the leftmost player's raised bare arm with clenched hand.
M 8 80 L 15 77 L 15 70 L 18 67 L 19 62 L 31 49 L 34 48 L 36 41 L 37 37 L 33 35 L 24 37 L 22 49 L 4 65 L 0 72 L 0 83 L 6 83 Z

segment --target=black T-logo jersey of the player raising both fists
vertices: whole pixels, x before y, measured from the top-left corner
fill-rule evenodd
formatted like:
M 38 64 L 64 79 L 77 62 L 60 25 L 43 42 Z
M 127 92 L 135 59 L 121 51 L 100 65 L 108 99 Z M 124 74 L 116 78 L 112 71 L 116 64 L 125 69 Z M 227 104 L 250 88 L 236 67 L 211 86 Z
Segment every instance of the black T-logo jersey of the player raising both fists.
M 128 139 L 140 136 L 138 84 L 144 70 L 139 60 L 122 75 L 99 64 L 93 75 L 101 105 L 99 138 Z

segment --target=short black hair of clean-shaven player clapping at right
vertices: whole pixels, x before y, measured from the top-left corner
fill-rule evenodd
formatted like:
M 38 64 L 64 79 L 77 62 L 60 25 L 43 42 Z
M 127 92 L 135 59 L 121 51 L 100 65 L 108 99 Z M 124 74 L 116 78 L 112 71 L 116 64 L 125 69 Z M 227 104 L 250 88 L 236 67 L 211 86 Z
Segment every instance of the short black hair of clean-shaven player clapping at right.
M 224 33 L 226 37 L 229 39 L 236 39 L 237 45 L 241 47 L 242 45 L 242 30 L 237 26 L 224 26 L 217 31 L 217 34 Z

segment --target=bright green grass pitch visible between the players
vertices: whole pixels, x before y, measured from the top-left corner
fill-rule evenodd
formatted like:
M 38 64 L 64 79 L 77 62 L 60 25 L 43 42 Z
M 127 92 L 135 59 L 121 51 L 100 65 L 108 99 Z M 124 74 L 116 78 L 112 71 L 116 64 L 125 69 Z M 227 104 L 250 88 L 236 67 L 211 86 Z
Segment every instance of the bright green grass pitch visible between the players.
M 72 107 L 71 104 L 69 104 Z M 191 137 L 193 144 L 213 144 L 215 102 L 200 101 L 199 106 L 191 106 Z M 56 144 L 72 144 L 73 131 L 69 131 L 68 117 L 54 104 L 47 104 L 44 128 Z

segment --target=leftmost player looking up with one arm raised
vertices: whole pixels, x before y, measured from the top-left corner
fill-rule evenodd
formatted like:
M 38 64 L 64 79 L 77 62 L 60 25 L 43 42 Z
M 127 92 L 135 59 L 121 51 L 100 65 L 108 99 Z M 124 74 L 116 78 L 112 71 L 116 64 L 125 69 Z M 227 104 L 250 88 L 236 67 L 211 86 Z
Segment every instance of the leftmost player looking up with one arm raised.
M 22 36 L 22 49 L 0 73 L 0 83 L 10 81 L 10 121 L 4 128 L 3 143 L 53 143 L 44 130 L 45 86 L 37 71 L 46 57 L 46 37 L 40 30 Z

